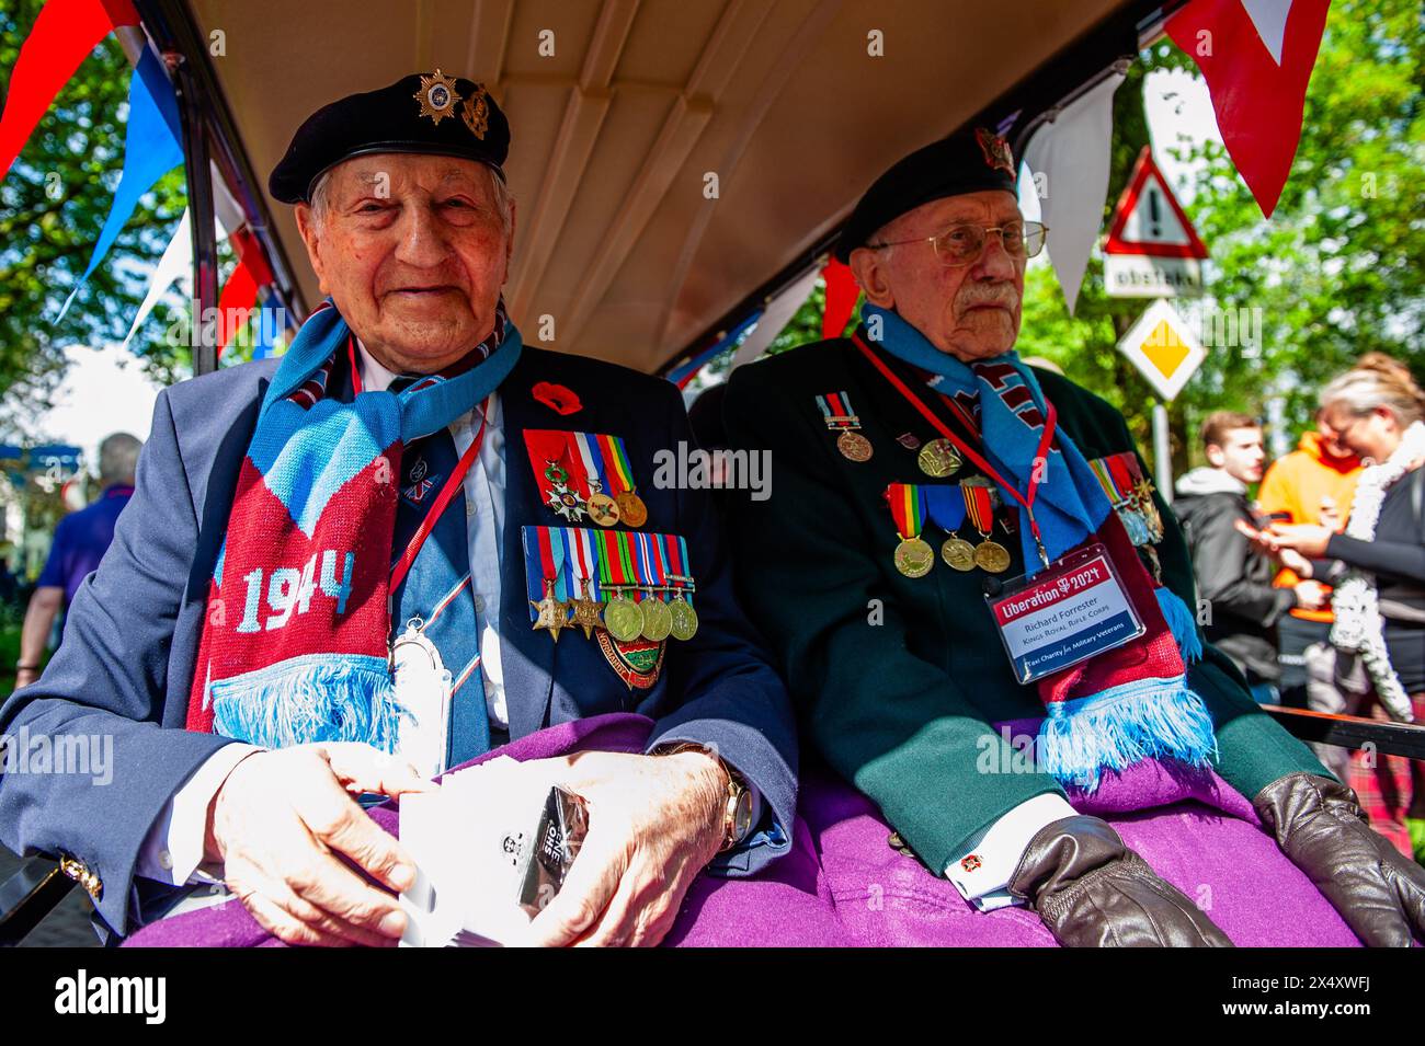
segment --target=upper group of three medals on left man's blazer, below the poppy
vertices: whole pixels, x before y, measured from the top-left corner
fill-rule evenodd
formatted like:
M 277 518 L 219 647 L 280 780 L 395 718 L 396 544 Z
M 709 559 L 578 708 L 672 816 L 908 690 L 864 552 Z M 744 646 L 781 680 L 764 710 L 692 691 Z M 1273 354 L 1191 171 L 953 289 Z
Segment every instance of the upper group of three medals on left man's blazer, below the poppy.
M 600 527 L 643 527 L 648 521 L 621 437 L 527 428 L 524 445 L 540 498 L 561 519 L 583 522 L 587 517 Z

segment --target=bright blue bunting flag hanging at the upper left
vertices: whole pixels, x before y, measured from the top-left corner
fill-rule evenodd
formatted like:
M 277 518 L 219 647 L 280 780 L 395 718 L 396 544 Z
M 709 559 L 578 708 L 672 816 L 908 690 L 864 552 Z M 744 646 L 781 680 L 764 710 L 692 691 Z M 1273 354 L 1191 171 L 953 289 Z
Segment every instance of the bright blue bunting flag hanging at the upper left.
M 51 0 L 53 3 L 53 0 Z M 46 4 L 48 10 L 48 4 Z M 162 178 L 182 162 L 182 132 L 178 127 L 178 97 L 174 94 L 168 74 L 155 56 L 147 47 L 134 67 L 134 75 L 128 81 L 128 128 L 124 137 L 124 172 L 118 179 L 118 189 L 114 192 L 114 204 L 104 221 L 104 228 L 90 255 L 90 263 L 84 269 L 70 296 L 60 309 L 60 317 L 70 309 L 74 296 L 84 286 L 90 273 L 114 245 L 124 223 L 138 206 L 138 199 L 148 192 L 154 182 Z M 56 317 L 58 319 L 58 317 Z

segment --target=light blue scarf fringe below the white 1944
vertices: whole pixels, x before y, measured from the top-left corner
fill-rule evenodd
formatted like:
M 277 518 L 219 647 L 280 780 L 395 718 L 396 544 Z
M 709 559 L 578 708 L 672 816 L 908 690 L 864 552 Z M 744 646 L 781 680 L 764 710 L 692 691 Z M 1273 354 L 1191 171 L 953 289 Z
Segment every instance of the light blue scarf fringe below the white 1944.
M 218 680 L 211 693 L 212 730 L 225 737 L 268 749 L 362 741 L 396 750 L 403 710 L 379 657 L 294 657 Z

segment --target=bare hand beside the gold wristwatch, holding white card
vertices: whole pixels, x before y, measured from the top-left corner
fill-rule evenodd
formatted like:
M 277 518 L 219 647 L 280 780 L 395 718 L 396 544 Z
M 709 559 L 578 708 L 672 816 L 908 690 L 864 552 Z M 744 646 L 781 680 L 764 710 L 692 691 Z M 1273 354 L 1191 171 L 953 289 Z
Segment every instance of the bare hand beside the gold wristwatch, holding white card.
M 587 804 L 589 835 L 529 942 L 657 945 L 722 844 L 727 771 L 703 751 L 589 751 L 550 763 L 564 764 L 559 783 Z

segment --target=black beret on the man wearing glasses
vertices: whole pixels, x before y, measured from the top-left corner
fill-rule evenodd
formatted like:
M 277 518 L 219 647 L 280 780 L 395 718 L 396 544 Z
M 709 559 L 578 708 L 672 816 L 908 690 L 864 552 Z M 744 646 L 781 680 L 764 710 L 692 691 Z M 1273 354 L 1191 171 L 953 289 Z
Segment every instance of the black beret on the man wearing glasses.
M 1019 168 L 1009 142 L 983 127 L 956 131 L 876 178 L 841 229 L 836 258 L 845 262 L 876 229 L 921 204 L 983 189 L 1016 192 Z

